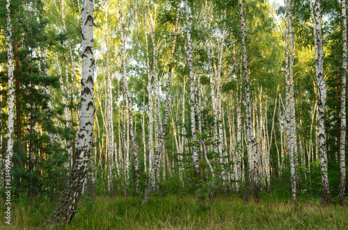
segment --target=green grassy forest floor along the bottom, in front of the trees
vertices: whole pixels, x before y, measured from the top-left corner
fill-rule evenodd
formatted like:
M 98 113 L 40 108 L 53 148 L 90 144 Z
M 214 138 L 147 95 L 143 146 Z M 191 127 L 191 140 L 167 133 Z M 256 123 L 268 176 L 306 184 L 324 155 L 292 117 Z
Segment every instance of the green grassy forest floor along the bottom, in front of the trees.
M 42 229 L 45 215 L 56 202 L 14 202 L 11 225 L 5 223 L 1 202 L 0 229 Z M 40 208 L 40 211 L 39 211 Z M 42 213 L 41 213 L 42 212 Z M 97 197 L 95 202 L 82 198 L 68 226 L 55 229 L 348 229 L 348 206 L 301 201 L 262 200 L 246 204 L 239 197 L 218 197 L 213 204 L 196 197 L 152 197 L 142 206 L 141 199 Z

